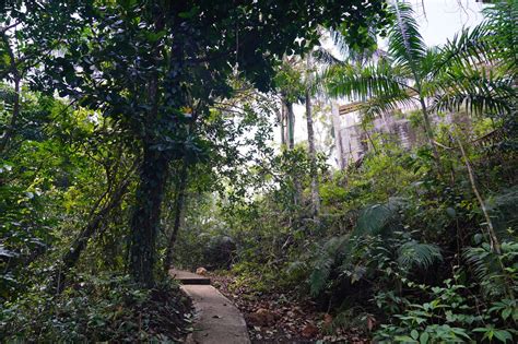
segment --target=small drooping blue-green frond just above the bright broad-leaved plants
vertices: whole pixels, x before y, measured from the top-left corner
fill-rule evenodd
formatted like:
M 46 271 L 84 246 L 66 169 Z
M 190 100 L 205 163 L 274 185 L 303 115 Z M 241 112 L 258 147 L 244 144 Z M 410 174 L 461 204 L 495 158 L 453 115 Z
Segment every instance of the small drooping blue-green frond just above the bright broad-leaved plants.
M 405 270 L 412 268 L 426 270 L 435 262 L 442 260 L 443 254 L 440 253 L 440 249 L 432 244 L 410 240 L 403 244 L 398 250 L 398 263 Z

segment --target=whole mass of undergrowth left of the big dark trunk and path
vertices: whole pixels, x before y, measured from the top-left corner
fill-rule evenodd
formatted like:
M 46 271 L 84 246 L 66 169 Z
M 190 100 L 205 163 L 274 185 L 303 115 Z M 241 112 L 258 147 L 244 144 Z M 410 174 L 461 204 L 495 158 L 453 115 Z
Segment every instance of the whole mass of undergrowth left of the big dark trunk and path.
M 0 165 L 0 337 L 181 341 L 191 309 L 178 285 L 161 274 L 149 289 L 125 272 L 131 198 L 110 192 L 132 188 L 133 158 L 101 138 L 117 128 L 38 93 L 26 91 L 23 106 Z M 89 228 L 90 254 L 73 260 L 74 236 Z

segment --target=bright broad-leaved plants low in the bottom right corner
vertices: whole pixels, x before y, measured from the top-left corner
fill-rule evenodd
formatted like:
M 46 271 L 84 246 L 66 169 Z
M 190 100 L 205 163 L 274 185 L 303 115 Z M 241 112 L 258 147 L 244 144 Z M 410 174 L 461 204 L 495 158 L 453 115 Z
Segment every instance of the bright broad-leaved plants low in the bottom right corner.
M 423 286 L 421 286 L 423 288 Z M 476 297 L 467 293 L 468 287 L 451 280 L 444 287 L 431 289 L 432 300 L 424 304 L 410 304 L 405 311 L 396 315 L 392 324 L 381 325 L 375 340 L 404 343 L 463 343 L 466 341 L 492 341 L 513 343 L 518 334 L 510 321 L 516 312 L 516 303 L 504 299 L 488 306 L 478 305 Z M 473 313 L 473 309 L 476 313 Z M 505 311 L 505 313 L 504 313 Z M 501 312 L 501 319 L 492 315 Z M 492 324 L 478 327 L 492 321 Z M 495 328 L 499 325 L 502 328 Z

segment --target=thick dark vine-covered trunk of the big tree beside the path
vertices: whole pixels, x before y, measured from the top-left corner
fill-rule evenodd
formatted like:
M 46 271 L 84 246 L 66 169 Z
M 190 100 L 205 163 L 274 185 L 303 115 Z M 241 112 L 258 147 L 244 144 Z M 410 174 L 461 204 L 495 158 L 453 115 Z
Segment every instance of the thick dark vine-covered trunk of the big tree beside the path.
M 155 241 L 167 176 L 166 154 L 146 144 L 131 216 L 129 263 L 133 280 L 146 287 L 154 286 Z

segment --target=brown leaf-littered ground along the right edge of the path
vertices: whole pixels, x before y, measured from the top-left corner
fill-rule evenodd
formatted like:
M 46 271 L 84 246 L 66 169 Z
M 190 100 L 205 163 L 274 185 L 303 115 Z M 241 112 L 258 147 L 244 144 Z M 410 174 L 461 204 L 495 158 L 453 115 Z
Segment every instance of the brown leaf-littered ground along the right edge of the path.
M 295 293 L 257 292 L 228 275 L 210 274 L 212 285 L 242 311 L 252 343 L 368 343 L 356 329 L 332 327 L 332 317 Z

